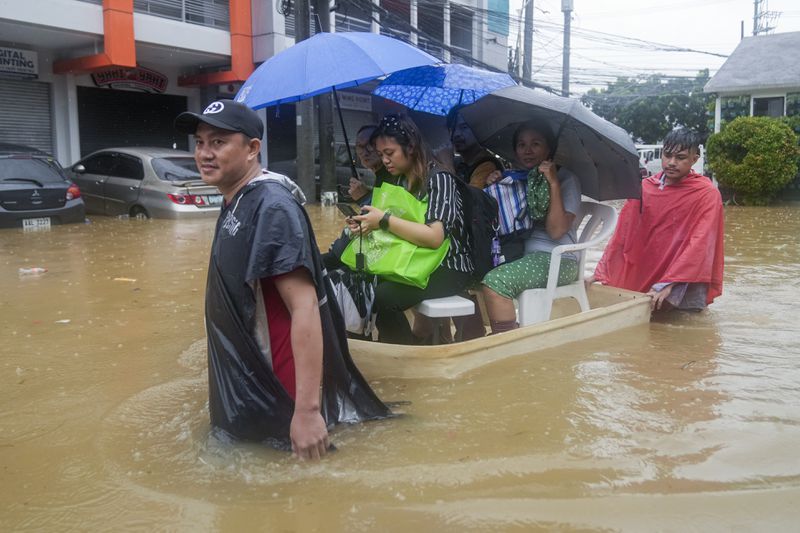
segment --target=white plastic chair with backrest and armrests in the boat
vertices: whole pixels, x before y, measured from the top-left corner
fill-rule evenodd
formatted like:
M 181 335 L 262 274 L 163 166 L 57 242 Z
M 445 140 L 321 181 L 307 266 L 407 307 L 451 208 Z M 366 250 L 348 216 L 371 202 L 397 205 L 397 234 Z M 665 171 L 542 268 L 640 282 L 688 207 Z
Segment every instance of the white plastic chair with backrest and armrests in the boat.
M 544 289 L 528 289 L 517 298 L 520 326 L 528 326 L 550 320 L 553 300 L 558 298 L 575 298 L 581 307 L 581 312 L 590 309 L 583 280 L 583 270 L 586 266 L 586 250 L 601 243 L 613 233 L 614 226 L 617 224 L 617 211 L 609 205 L 597 202 L 581 202 L 581 207 L 575 216 L 573 224 L 576 232 L 586 217 L 589 218 L 583 231 L 578 236 L 576 244 L 562 244 L 553 248 L 550 258 L 550 272 L 547 275 L 547 287 Z M 601 226 L 599 231 L 597 234 L 592 235 L 598 226 Z M 530 244 L 531 241 L 525 243 L 526 253 L 532 251 L 529 250 Z M 558 287 L 561 256 L 568 252 L 572 252 L 578 259 L 578 280 Z

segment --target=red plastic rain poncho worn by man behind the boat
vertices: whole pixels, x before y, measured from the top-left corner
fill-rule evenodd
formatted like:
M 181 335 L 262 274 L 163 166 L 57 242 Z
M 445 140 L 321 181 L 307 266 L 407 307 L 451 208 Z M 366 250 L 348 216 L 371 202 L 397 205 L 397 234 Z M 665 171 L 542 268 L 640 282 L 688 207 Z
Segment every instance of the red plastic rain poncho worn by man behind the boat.
M 642 181 L 642 200 L 623 206 L 595 279 L 639 292 L 655 283 L 707 283 L 710 304 L 722 294 L 722 198 L 694 172 L 663 190 L 659 178 Z

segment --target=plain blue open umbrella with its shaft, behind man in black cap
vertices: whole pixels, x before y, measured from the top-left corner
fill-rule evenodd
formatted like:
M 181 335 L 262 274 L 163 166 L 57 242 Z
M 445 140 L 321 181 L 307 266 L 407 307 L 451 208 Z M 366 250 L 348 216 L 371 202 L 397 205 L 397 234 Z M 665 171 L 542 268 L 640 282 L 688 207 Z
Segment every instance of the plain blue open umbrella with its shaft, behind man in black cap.
M 398 70 L 439 60 L 414 46 L 367 32 L 320 32 L 275 54 L 253 72 L 236 93 L 252 109 L 305 100 L 333 91 L 350 169 L 358 179 L 347 141 L 336 89 L 354 87 Z

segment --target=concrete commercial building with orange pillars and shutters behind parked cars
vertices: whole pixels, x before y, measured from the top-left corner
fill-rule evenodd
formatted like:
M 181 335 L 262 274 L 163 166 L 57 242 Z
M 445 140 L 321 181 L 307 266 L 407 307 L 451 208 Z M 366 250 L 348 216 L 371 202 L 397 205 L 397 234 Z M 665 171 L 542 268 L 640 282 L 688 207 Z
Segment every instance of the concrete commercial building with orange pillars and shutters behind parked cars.
M 47 150 L 64 165 L 114 145 L 186 149 L 172 119 L 232 97 L 258 64 L 291 46 L 293 3 L 0 0 L 0 142 Z M 335 6 L 333 31 L 381 32 L 445 61 L 506 68 L 508 0 Z M 376 119 L 368 91 L 342 100 L 349 132 Z M 293 108 L 263 112 L 269 159 L 294 157 Z

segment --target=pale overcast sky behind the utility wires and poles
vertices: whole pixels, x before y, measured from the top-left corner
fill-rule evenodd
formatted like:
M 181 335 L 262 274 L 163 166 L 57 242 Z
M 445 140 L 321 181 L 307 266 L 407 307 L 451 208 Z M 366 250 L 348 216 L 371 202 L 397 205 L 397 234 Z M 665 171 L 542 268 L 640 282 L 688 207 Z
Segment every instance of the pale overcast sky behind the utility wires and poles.
M 560 89 L 561 0 L 532 1 L 534 80 Z M 523 2 L 510 2 L 510 40 L 515 38 L 515 19 Z M 570 91 L 579 94 L 621 75 L 662 72 L 692 76 L 703 68 L 713 74 L 725 61 L 701 53 L 649 50 L 646 43 L 615 36 L 728 55 L 739 43 L 741 21 L 745 36 L 753 33 L 753 0 L 574 0 L 573 4 Z M 773 33 L 800 31 L 800 0 L 768 0 L 766 4 L 769 11 L 781 12 Z

